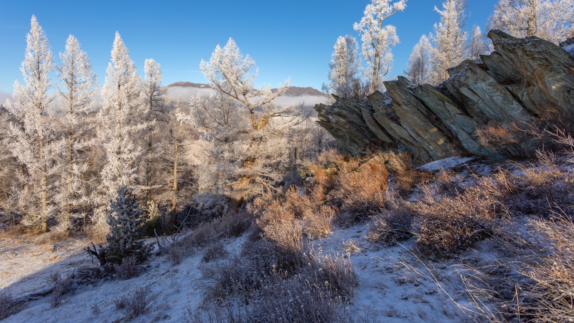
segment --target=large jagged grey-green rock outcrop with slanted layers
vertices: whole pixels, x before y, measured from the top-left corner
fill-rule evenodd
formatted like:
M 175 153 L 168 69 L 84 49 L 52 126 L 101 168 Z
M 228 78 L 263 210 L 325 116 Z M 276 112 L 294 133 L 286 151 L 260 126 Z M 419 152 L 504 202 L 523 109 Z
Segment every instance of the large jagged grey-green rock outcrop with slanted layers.
M 367 103 L 334 95 L 319 104 L 319 124 L 348 152 L 368 145 L 413 153 L 417 160 L 449 156 L 500 156 L 480 145 L 476 128 L 491 121 L 529 120 L 571 128 L 574 122 L 574 57 L 537 37 L 518 39 L 500 30 L 488 37 L 495 51 L 448 70 L 439 86 L 414 86 L 400 76 Z

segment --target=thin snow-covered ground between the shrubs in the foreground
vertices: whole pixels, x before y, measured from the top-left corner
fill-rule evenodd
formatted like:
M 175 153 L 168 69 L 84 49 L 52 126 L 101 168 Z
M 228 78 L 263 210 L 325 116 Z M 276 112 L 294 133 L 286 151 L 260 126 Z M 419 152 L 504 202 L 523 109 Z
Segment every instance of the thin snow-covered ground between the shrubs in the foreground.
M 466 316 L 455 305 L 467 300 L 457 295 L 463 287 L 451 263 L 427 264 L 409 251 L 413 240 L 395 247 L 377 247 L 367 243 L 366 224 L 347 229 L 336 228 L 326 238 L 314 240 L 316 250 L 347 253 L 359 276 L 359 286 L 352 299 L 361 311 L 376 312 L 384 322 L 464 322 Z M 241 248 L 243 237 L 224 239 L 230 252 Z M 64 276 L 73 268 L 90 264 L 82 253 L 88 241 L 75 239 L 53 245 L 34 245 L 22 238 L 2 239 L 2 280 L 0 288 L 9 289 L 15 297 L 49 287 L 48 275 L 60 271 Z M 359 247 L 351 251 L 350 245 Z M 22 312 L 7 322 L 114 322 L 125 313 L 116 309 L 114 299 L 133 293 L 138 287 L 149 287 L 156 299 L 152 309 L 133 322 L 181 322 L 187 309 L 194 309 L 203 299 L 200 284 L 201 252 L 172 266 L 167 256 L 152 256 L 144 264 L 146 271 L 129 280 L 106 280 L 79 286 L 66 295 L 60 306 L 51 307 L 46 297 L 28 303 Z M 96 309 L 97 307 L 97 309 Z

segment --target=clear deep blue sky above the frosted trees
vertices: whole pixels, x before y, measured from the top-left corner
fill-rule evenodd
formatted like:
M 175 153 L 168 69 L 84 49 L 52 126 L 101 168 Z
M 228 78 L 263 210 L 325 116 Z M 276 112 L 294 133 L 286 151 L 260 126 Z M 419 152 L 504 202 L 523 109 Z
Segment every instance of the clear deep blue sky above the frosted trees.
M 497 0 L 469 0 L 468 29 L 484 28 Z M 206 83 L 199 72 L 215 45 L 233 37 L 259 66 L 257 86 L 277 86 L 288 77 L 294 86 L 320 89 L 332 47 L 339 35 L 352 34 L 369 0 L 290 1 L 29 1 L 0 0 L 0 91 L 12 92 L 24 58 L 30 17 L 36 15 L 56 54 L 73 34 L 90 56 L 103 82 L 116 30 L 142 70 L 144 60 L 161 64 L 164 83 Z M 386 20 L 397 26 L 389 78 L 402 75 L 410 52 L 428 34 L 441 0 L 409 0 L 404 12 Z M 59 59 L 56 59 L 58 61 Z

